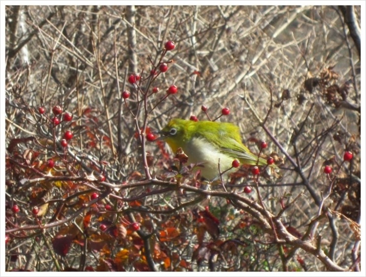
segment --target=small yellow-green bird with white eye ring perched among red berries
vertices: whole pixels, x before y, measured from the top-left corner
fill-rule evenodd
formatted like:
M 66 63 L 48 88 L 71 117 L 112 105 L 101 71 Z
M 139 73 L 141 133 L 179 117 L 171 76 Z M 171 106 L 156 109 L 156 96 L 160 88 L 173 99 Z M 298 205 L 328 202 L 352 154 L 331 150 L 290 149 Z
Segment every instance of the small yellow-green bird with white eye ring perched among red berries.
M 242 143 L 239 127 L 233 123 L 176 118 L 159 133 L 173 153 L 181 148 L 188 155 L 188 164 L 200 164 L 201 177 L 207 180 L 217 179 L 220 172 L 230 172 L 235 159 L 247 165 L 267 164 Z

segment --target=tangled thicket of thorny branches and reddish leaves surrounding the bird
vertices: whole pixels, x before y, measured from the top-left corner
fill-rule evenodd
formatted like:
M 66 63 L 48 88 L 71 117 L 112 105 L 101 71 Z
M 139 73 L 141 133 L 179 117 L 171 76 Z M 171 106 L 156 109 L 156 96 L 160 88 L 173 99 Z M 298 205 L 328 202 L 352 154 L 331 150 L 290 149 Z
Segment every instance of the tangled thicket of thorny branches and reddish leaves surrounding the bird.
M 6 270 L 360 271 L 360 18 L 6 6 Z M 278 170 L 210 183 L 153 141 L 201 105 Z

